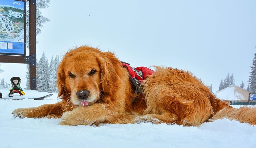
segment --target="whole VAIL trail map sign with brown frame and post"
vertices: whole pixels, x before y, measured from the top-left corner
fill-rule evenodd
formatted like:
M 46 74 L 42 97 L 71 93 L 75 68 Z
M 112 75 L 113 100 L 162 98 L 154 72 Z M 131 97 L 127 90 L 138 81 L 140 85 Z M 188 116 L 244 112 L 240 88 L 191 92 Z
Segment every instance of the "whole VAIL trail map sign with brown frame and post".
M 26 28 L 27 4 L 29 28 Z M 25 50 L 26 29 L 29 29 L 29 56 Z M 29 64 L 29 86 L 36 90 L 36 0 L 0 0 L 0 63 Z

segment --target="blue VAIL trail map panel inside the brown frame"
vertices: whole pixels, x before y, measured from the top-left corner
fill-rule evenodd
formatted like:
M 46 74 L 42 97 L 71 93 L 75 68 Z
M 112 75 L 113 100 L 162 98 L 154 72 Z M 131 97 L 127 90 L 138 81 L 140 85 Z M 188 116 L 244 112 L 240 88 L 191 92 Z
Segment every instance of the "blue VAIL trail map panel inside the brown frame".
M 0 54 L 26 55 L 26 1 L 0 1 Z

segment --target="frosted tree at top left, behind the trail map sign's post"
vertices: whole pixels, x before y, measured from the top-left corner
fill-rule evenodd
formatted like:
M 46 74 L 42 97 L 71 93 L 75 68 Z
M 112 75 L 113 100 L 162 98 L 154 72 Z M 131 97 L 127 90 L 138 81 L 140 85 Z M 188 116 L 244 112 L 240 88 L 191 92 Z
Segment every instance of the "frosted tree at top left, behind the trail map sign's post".
M 48 8 L 50 0 L 36 0 L 36 35 L 40 34 L 41 29 L 44 28 L 43 24 L 49 22 L 50 20 L 42 15 L 41 9 Z M 27 20 L 26 28 L 29 28 L 29 2 L 27 1 Z M 26 48 L 29 48 L 29 29 L 26 29 Z

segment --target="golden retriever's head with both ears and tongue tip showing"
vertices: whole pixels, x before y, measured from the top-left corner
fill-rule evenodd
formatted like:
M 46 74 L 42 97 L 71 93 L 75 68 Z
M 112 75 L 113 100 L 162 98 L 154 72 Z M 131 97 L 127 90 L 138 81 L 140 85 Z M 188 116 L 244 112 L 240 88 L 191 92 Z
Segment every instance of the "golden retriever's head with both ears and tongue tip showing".
M 120 62 L 111 52 L 81 46 L 66 53 L 57 69 L 59 96 L 75 105 L 88 106 L 100 95 L 115 92 Z

